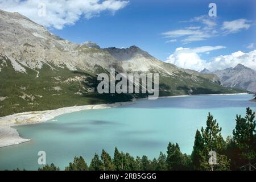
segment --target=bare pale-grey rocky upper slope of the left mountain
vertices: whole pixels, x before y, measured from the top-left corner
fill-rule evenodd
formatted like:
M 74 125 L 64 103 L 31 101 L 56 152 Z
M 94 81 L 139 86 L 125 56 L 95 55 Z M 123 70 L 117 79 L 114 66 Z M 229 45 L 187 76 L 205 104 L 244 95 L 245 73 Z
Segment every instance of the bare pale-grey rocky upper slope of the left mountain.
M 94 71 L 97 64 L 107 69 L 117 61 L 97 46 L 63 40 L 18 13 L 0 11 L 0 21 L 1 54 L 17 71 L 26 72 L 24 67 L 39 71 L 43 64 Z

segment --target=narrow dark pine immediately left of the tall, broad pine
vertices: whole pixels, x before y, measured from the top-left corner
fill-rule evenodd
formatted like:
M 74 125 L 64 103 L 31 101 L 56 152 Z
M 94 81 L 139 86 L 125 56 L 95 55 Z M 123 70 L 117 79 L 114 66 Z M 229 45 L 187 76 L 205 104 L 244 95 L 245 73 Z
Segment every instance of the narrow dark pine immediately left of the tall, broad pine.
M 204 141 L 199 130 L 196 130 L 195 142 L 191 154 L 192 165 L 194 170 L 201 170 L 201 163 L 203 161 Z

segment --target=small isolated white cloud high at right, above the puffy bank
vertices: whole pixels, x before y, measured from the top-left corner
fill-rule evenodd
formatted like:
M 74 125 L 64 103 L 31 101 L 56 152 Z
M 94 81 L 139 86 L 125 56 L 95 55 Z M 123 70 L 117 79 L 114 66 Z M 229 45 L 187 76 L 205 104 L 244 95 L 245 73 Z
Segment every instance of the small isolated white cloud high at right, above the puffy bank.
M 243 29 L 247 30 L 248 28 L 250 28 L 250 24 L 246 19 L 236 19 L 230 22 L 226 21 L 222 24 L 222 30 L 225 30 L 226 34 L 236 33 Z

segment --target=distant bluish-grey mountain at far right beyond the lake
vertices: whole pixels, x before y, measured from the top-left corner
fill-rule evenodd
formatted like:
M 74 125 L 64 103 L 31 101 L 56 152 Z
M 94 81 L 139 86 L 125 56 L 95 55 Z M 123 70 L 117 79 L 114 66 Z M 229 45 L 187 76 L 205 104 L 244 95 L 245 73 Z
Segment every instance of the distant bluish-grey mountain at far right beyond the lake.
M 226 68 L 214 72 L 204 69 L 201 73 L 217 75 L 224 86 L 246 89 L 256 93 L 256 71 L 242 64 L 238 64 L 234 68 Z

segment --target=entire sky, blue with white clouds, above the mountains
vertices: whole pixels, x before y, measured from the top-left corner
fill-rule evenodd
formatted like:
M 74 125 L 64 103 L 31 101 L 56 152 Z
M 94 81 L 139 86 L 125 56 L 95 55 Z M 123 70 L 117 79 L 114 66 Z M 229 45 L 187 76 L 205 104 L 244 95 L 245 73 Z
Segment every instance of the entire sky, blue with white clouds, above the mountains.
M 45 17 L 37 15 L 41 2 L 46 3 Z M 102 48 L 135 45 L 162 61 L 196 70 L 238 63 L 256 70 L 254 0 L 54 2 L 0 0 L 0 9 L 18 11 L 75 43 L 90 40 Z M 208 16 L 211 2 L 217 5 L 217 17 Z

